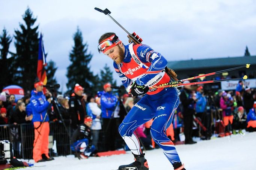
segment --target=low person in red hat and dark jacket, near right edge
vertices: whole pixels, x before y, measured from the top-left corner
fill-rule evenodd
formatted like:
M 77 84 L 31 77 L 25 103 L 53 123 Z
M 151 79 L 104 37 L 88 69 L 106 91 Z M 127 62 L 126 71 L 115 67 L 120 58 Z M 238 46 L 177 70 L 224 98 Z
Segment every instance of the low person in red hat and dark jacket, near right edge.
M 234 114 L 233 119 L 233 134 L 242 133 L 242 129 L 246 128 L 246 114 L 244 113 L 244 108 L 239 106 L 237 113 Z

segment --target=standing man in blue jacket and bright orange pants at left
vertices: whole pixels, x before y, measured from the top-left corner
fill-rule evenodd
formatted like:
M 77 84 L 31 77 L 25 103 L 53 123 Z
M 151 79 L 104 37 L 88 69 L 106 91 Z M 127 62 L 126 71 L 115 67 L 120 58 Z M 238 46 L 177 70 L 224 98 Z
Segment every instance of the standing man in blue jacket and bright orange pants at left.
M 35 162 L 51 161 L 48 155 L 49 149 L 49 116 L 47 115 L 51 97 L 46 100 L 43 94 L 43 82 L 38 81 L 34 84 L 35 90 L 31 94 L 31 108 L 33 113 L 33 124 L 35 127 L 35 140 L 33 147 L 33 159 Z M 40 134 L 40 135 L 39 135 Z

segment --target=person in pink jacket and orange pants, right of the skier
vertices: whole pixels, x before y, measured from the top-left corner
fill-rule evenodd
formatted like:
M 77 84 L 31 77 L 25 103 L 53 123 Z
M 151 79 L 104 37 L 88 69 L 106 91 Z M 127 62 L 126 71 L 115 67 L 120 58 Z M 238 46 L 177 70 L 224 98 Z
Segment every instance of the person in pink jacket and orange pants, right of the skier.
M 223 121 L 225 125 L 226 136 L 232 134 L 231 125 L 233 123 L 233 118 L 234 118 L 234 116 L 232 115 L 232 110 L 233 110 L 232 106 L 233 106 L 233 101 L 230 100 L 226 92 L 223 92 L 222 97 L 220 98 L 220 108 L 223 110 L 222 115 L 223 115 Z

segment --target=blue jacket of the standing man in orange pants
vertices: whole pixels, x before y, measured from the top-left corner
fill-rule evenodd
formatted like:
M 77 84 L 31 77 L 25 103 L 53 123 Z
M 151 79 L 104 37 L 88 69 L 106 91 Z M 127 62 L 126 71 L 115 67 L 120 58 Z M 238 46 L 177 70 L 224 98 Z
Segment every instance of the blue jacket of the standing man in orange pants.
M 30 105 L 32 108 L 33 119 L 32 122 L 44 121 L 44 116 L 47 113 L 49 102 L 46 100 L 42 92 L 32 91 L 30 98 Z M 49 116 L 46 116 L 45 122 L 49 121 Z

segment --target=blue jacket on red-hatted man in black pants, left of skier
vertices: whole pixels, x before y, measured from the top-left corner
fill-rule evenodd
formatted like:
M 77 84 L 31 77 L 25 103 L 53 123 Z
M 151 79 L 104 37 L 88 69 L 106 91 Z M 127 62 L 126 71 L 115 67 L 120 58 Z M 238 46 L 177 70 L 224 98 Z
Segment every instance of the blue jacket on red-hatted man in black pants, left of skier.
M 117 98 L 111 92 L 103 92 L 101 95 L 102 118 L 111 118 L 115 109 Z

